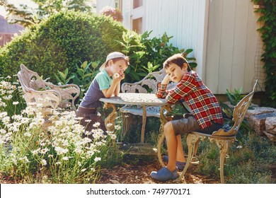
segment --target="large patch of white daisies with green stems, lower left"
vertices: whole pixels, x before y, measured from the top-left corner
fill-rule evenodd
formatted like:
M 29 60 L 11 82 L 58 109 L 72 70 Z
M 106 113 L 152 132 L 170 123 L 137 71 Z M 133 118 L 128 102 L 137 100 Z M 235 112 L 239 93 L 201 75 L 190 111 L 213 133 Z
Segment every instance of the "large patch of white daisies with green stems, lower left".
M 96 165 L 105 156 L 102 152 L 115 145 L 116 134 L 103 132 L 98 122 L 93 124 L 97 129 L 85 131 L 74 111 L 45 107 L 49 98 L 38 99 L 40 103 L 28 103 L 24 110 L 14 113 L 15 108 L 22 107 L 22 96 L 18 101 L 13 98 L 16 88 L 21 87 L 17 82 L 9 83 L 3 79 L 0 77 L 0 149 L 3 148 L 1 152 L 6 154 L 6 162 L 1 163 L 11 163 L 17 171 L 18 167 L 35 165 L 33 169 L 45 173 L 54 173 L 52 170 L 71 173 L 74 170 L 75 175 L 81 173 L 88 178 L 89 174 L 95 174 L 98 171 Z M 16 94 L 22 92 L 18 91 Z M 120 127 L 115 126 L 115 129 Z M 25 168 L 22 174 L 25 174 Z

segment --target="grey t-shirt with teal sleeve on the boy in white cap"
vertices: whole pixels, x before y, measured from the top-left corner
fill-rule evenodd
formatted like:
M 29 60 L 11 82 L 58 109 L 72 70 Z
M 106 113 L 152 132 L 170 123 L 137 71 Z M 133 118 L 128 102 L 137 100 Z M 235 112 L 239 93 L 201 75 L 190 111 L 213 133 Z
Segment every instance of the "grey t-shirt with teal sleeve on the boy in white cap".
M 102 90 L 110 88 L 112 81 L 112 78 L 108 76 L 108 72 L 106 72 L 105 70 L 100 71 L 93 79 L 91 85 L 88 88 L 88 91 L 84 95 L 84 98 L 80 104 L 81 107 L 100 107 L 102 103 L 99 99 L 105 98 Z

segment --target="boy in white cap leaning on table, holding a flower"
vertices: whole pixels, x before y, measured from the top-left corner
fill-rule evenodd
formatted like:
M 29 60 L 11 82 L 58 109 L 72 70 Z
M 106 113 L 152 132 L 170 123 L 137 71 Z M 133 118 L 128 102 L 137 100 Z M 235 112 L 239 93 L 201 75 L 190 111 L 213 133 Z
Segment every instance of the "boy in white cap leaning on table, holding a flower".
M 110 98 L 112 95 L 120 93 L 120 82 L 125 78 L 125 70 L 129 65 L 129 58 L 120 52 L 112 52 L 106 57 L 106 61 L 100 66 L 100 72 L 93 79 L 88 91 L 84 95 L 78 110 L 77 117 L 84 117 L 81 124 L 86 127 L 86 131 L 95 129 L 93 124 L 100 122 L 100 129 L 105 131 L 105 124 L 98 115 L 97 107 L 102 106 L 100 98 Z M 91 120 L 91 122 L 86 122 Z

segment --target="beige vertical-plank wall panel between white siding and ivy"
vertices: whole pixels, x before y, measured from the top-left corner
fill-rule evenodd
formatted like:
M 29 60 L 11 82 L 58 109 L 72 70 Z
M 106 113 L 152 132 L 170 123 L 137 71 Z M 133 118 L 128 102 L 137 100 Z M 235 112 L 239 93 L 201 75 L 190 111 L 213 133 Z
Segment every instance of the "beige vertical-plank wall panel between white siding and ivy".
M 214 93 L 241 87 L 248 93 L 256 78 L 264 90 L 258 18 L 249 0 L 209 2 L 205 83 Z

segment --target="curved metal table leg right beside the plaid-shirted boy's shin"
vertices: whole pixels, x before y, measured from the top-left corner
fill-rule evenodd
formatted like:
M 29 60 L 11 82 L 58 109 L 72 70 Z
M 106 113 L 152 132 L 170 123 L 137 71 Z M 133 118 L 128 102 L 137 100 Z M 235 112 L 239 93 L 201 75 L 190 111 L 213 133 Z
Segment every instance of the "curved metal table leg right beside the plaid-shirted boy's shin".
M 165 166 L 165 164 L 163 163 L 162 158 L 161 158 L 161 146 L 165 139 L 165 135 L 163 134 L 164 133 L 164 125 L 166 124 L 166 122 L 168 122 L 166 116 L 164 115 L 164 110 L 167 110 L 167 112 L 171 112 L 171 105 L 164 105 L 163 107 L 161 107 L 161 110 L 160 110 L 161 124 L 160 124 L 160 128 L 159 128 L 157 155 L 158 155 L 159 162 L 161 163 L 162 166 Z

